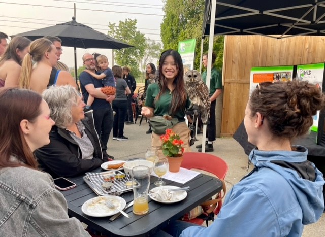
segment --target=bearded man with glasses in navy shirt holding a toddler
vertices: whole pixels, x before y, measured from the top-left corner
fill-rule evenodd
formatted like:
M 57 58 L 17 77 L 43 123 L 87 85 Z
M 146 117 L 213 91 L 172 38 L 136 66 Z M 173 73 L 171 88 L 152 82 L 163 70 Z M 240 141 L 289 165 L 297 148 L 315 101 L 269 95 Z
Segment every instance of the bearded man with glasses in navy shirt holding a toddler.
M 95 59 L 93 55 L 85 53 L 82 56 L 82 61 L 86 69 L 96 73 Z M 110 103 L 114 100 L 115 96 L 106 95 L 100 90 L 96 90 L 95 88 L 103 86 L 102 80 L 95 79 L 89 73 L 82 72 L 79 76 L 79 80 L 85 103 L 88 100 L 89 94 L 95 98 L 91 105 L 95 129 L 105 146 L 105 150 L 107 150 L 107 142 L 113 126 L 113 110 Z M 108 154 L 107 156 L 114 159 L 113 156 Z

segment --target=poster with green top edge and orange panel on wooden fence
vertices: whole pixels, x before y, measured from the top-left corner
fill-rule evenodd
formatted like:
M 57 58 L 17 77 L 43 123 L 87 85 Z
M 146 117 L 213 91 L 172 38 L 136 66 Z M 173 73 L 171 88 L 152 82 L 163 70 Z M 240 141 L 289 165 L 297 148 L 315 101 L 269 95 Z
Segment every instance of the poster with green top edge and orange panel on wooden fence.
M 252 67 L 250 71 L 251 93 L 259 83 L 293 80 L 294 66 L 261 66 Z

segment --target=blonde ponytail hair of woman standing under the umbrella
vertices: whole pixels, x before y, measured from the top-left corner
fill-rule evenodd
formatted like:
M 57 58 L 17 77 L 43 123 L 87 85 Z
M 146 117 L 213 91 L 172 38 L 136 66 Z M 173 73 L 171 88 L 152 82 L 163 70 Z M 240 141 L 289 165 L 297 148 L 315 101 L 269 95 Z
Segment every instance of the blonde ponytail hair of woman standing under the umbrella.
M 39 62 L 46 52 L 51 52 L 53 43 L 41 38 L 31 42 L 29 53 L 25 55 L 21 64 L 21 74 L 19 77 L 19 87 L 30 89 L 30 76 L 32 71 L 32 61 Z

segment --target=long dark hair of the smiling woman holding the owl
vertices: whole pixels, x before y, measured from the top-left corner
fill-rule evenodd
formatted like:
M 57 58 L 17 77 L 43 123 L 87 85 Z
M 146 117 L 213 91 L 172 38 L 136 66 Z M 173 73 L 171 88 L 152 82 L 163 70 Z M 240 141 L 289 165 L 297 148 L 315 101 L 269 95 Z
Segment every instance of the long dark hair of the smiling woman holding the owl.
M 176 62 L 176 69 L 177 69 L 177 76 L 173 81 L 173 85 L 175 86 L 175 89 L 173 90 L 173 98 L 172 103 L 170 105 L 169 111 L 171 115 L 175 115 L 177 111 L 182 110 L 185 108 L 186 99 L 187 99 L 187 93 L 185 90 L 185 84 L 184 84 L 184 67 L 181 55 L 172 49 L 166 50 L 163 54 L 160 56 L 159 60 L 159 72 L 160 72 L 160 80 L 159 80 L 159 87 L 160 91 L 159 94 L 156 97 L 156 100 L 160 98 L 162 94 L 164 94 L 167 90 L 167 79 L 165 78 L 163 74 L 163 65 L 164 61 L 167 56 L 172 56 Z

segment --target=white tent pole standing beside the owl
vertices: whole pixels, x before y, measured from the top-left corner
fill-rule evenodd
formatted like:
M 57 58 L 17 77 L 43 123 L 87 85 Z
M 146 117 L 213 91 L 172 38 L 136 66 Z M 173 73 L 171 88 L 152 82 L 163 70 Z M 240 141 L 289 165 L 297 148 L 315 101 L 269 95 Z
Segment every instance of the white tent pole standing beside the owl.
M 212 3 L 211 3 L 211 15 L 210 15 L 211 17 L 210 17 L 207 82 L 206 82 L 208 88 L 210 88 L 210 80 L 211 80 L 212 51 L 213 51 L 213 37 L 214 37 L 214 21 L 215 21 L 216 6 L 217 6 L 217 1 L 212 0 Z M 205 137 L 206 137 L 206 134 L 207 134 L 207 125 L 203 125 L 202 152 L 205 152 Z

